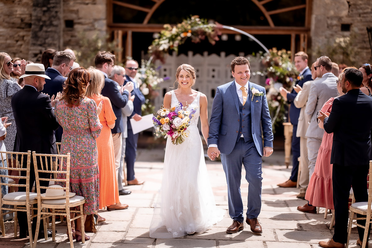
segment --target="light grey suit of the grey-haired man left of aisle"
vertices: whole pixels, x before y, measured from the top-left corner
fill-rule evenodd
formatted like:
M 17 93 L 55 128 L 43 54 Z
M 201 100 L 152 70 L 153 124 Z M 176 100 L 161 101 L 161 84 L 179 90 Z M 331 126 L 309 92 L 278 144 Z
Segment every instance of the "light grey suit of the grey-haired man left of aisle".
M 127 130 L 127 121 L 128 116 L 131 116 L 133 112 L 133 102 L 128 101 L 124 108 L 121 108 L 121 118 L 123 120 L 123 127 L 124 131 L 122 133 L 122 149 L 121 149 L 121 158 L 120 158 L 120 167 L 118 172 L 118 188 L 119 191 L 123 190 L 123 167 L 124 167 L 124 157 L 125 157 L 125 144 L 126 138 L 128 137 L 128 130 Z

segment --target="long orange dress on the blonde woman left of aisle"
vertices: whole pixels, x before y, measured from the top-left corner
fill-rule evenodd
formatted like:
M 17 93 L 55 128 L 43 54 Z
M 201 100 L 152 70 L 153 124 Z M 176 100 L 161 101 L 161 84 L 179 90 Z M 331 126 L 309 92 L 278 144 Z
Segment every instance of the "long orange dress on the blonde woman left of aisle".
M 99 121 L 103 128 L 100 136 L 96 138 L 99 168 L 99 208 L 103 209 L 106 206 L 120 202 L 118 175 L 116 175 L 115 169 L 114 146 L 111 129 L 108 126 L 115 123 L 116 116 L 108 97 L 94 95 L 92 99 L 96 102 L 97 106 L 103 100 L 102 111 L 99 115 Z

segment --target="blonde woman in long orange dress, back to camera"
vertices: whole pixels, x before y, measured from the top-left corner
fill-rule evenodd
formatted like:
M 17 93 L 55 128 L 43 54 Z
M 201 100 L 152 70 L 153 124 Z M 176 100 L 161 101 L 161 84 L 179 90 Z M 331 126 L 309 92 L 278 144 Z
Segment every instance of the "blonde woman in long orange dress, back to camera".
M 96 68 L 88 68 L 92 82 L 87 88 L 86 96 L 93 99 L 97 106 L 103 102 L 99 120 L 103 126 L 101 135 L 96 138 L 98 150 L 99 168 L 99 208 L 120 204 L 117 175 L 115 170 L 115 155 L 112 142 L 111 129 L 115 126 L 116 116 L 112 110 L 108 97 L 101 95 L 105 84 L 105 77 Z M 98 222 L 105 221 L 105 218 L 98 217 Z

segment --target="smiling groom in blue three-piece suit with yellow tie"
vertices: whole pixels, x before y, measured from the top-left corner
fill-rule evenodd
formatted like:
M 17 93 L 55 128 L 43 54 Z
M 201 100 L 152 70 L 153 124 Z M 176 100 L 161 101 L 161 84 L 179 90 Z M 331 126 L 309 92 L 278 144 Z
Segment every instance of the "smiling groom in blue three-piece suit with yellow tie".
M 231 61 L 231 72 L 235 80 L 217 87 L 213 100 L 208 157 L 214 160 L 221 154 L 226 174 L 229 214 L 233 220 L 226 232 L 236 233 L 244 228 L 240 194 L 243 164 L 249 183 L 246 222 L 252 232 L 262 233 L 257 220 L 261 211 L 262 156 L 269 157 L 273 153 L 266 91 L 264 87 L 248 81 L 251 72 L 247 58 L 234 58 Z

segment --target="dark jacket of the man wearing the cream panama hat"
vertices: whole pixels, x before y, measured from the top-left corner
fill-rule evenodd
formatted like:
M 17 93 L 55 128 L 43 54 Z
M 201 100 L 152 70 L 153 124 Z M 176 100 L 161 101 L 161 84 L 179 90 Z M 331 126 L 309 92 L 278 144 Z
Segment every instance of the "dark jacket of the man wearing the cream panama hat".
M 49 96 L 25 85 L 12 96 L 17 126 L 15 151 L 57 154 L 54 130 L 59 124 Z

